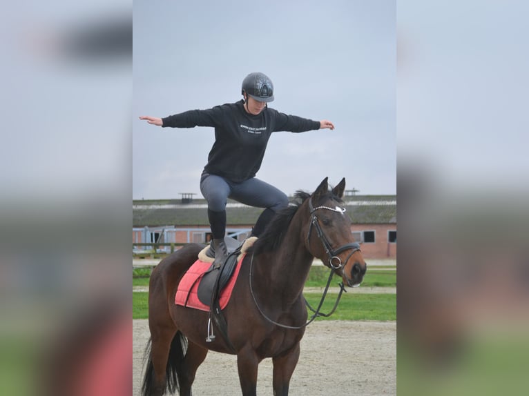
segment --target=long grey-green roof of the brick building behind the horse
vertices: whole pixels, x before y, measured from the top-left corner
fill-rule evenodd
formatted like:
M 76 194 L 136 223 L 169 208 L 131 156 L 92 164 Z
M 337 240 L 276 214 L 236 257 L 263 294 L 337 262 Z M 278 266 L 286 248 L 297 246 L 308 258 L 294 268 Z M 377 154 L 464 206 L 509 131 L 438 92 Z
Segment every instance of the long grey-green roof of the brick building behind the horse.
M 396 224 L 396 195 L 354 195 L 344 201 L 354 224 Z M 226 212 L 229 226 L 253 226 L 262 209 L 228 200 Z M 209 226 L 206 200 L 133 200 L 133 227 L 144 226 Z

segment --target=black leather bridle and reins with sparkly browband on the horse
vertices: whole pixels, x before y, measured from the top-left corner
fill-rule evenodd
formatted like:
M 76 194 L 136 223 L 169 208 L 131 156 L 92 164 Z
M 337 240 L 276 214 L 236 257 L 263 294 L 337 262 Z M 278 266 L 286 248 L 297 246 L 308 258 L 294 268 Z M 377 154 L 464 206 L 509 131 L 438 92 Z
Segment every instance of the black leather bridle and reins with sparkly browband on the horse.
M 340 293 L 338 293 L 338 297 L 336 297 L 336 302 L 334 303 L 334 307 L 332 308 L 331 312 L 329 312 L 329 313 L 320 313 L 320 309 L 323 306 L 323 303 L 325 302 L 325 298 L 327 297 L 327 292 L 329 291 L 329 285 L 331 284 L 331 279 L 332 279 L 332 277 L 334 275 L 334 270 L 342 268 L 345 264 L 347 264 L 347 261 L 349 261 L 351 256 L 355 252 L 360 250 L 360 245 L 357 244 L 356 242 L 353 242 L 351 244 L 345 244 L 343 246 L 340 246 L 336 250 L 334 250 L 332 248 L 331 244 L 329 244 L 329 240 L 327 239 L 327 237 L 325 237 L 325 234 L 323 233 L 323 230 L 320 227 L 320 224 L 319 224 L 319 221 L 318 221 L 318 217 L 316 217 L 316 215 L 314 215 L 314 212 L 316 212 L 316 210 L 318 210 L 318 209 L 325 209 L 325 210 L 331 210 L 333 212 L 343 213 L 343 212 L 345 212 L 345 208 L 339 208 L 338 206 L 336 206 L 336 208 L 329 208 L 328 206 L 318 206 L 318 207 L 314 208 L 312 206 L 312 197 L 311 197 L 309 199 L 309 209 L 310 209 L 310 214 L 312 215 L 312 219 L 311 219 L 311 224 L 309 226 L 309 232 L 308 232 L 308 235 L 307 235 L 307 246 L 310 246 L 311 230 L 312 230 L 312 227 L 314 226 L 314 228 L 316 228 L 316 232 L 318 232 L 318 238 L 320 239 L 320 241 L 323 244 L 323 247 L 325 248 L 325 253 L 327 253 L 327 256 L 329 258 L 329 266 L 331 268 L 331 273 L 329 274 L 329 279 L 327 279 L 327 285 L 325 285 L 325 290 L 323 290 L 323 295 L 322 295 L 322 297 L 320 299 L 320 304 L 318 304 L 318 308 L 316 308 L 316 310 L 311 307 L 311 305 L 309 304 L 309 301 L 307 301 L 305 296 L 303 296 L 303 299 L 305 299 L 305 305 L 314 313 L 311 316 L 311 318 L 307 321 L 307 323 L 302 324 L 301 326 L 288 326 L 286 324 L 280 324 L 277 321 L 274 321 L 274 320 L 270 319 L 269 317 L 267 317 L 267 315 L 262 311 L 261 307 L 259 306 L 259 304 L 257 302 L 256 295 L 253 293 L 253 286 L 251 284 L 251 275 L 252 275 L 252 272 L 253 272 L 253 255 L 254 255 L 254 253 L 252 253 L 251 260 L 250 260 L 250 271 L 249 271 L 249 273 L 250 273 L 250 279 L 249 279 L 249 281 L 250 281 L 250 293 L 251 293 L 251 297 L 253 298 L 253 302 L 256 304 L 256 307 L 258 308 L 260 314 L 264 317 L 264 319 L 267 319 L 267 321 L 269 321 L 270 323 L 275 324 L 276 326 L 279 326 L 279 327 L 282 327 L 282 328 L 289 328 L 289 329 L 292 329 L 292 330 L 299 330 L 300 328 L 304 328 L 305 326 L 308 326 L 317 317 L 320 317 L 320 316 L 329 317 L 329 316 L 331 316 L 334 313 L 334 311 L 338 307 L 338 303 L 340 302 L 340 298 L 342 297 L 342 293 L 343 292 L 347 293 L 347 290 L 345 290 L 345 286 L 343 286 L 343 282 L 340 282 L 338 284 L 338 286 L 340 286 Z M 343 251 L 348 250 L 348 249 L 352 249 L 352 252 L 347 256 L 347 259 L 345 259 L 345 262 L 342 263 L 342 260 L 340 259 L 340 257 L 338 257 L 338 255 L 340 253 L 342 253 Z

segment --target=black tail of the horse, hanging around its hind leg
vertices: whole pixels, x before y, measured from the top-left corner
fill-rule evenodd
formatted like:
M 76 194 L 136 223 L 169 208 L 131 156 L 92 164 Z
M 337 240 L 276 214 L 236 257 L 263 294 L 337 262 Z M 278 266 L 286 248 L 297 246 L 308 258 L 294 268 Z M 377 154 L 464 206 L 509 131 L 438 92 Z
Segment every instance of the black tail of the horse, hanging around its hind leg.
M 152 339 L 148 339 L 147 346 L 144 353 L 144 366 L 146 364 L 145 375 L 142 383 L 142 396 L 151 396 L 155 392 L 154 383 L 154 366 L 151 359 Z M 169 389 L 171 394 L 175 391 L 180 394 L 180 381 L 182 370 L 184 368 L 184 356 L 187 350 L 187 338 L 177 331 L 173 341 L 171 341 L 171 349 L 169 350 L 169 357 L 167 359 L 167 366 L 165 369 L 166 383 L 164 385 L 164 392 Z

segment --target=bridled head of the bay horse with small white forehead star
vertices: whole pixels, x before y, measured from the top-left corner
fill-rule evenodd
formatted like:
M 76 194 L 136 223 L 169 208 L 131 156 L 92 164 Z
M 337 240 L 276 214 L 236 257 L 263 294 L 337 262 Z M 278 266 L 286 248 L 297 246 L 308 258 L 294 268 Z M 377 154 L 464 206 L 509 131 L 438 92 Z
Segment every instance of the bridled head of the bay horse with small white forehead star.
M 340 275 L 346 286 L 360 286 L 367 265 L 351 232 L 351 219 L 345 214 L 345 178 L 329 191 L 327 177 L 307 199 L 309 224 L 305 244 L 309 252 Z

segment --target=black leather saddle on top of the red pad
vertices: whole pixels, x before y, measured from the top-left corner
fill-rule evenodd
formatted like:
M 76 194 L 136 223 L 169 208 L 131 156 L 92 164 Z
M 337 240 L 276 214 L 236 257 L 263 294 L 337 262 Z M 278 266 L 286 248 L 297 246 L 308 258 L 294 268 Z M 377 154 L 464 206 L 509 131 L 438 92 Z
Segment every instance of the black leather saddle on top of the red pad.
M 226 260 L 220 266 L 211 264 L 211 267 L 206 270 L 198 284 L 198 299 L 206 306 L 211 307 L 213 301 L 219 298 L 220 292 L 228 283 L 231 275 L 233 275 L 233 270 L 235 270 L 237 264 L 237 257 L 242 248 L 242 242 L 231 237 L 225 237 L 224 243 L 228 248 Z M 211 253 L 211 248 L 206 252 L 206 255 L 215 257 L 215 254 Z

